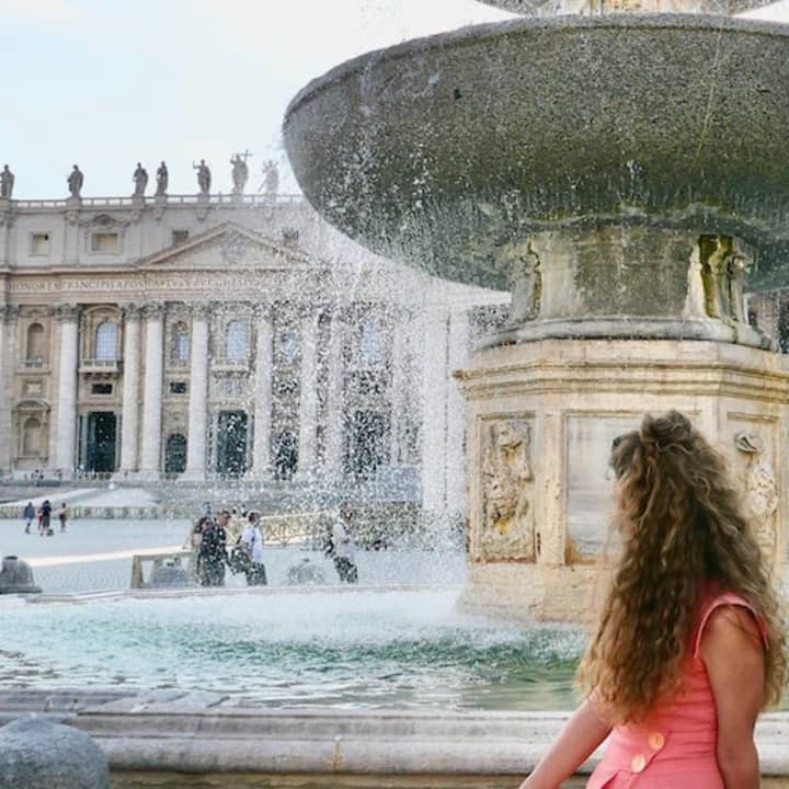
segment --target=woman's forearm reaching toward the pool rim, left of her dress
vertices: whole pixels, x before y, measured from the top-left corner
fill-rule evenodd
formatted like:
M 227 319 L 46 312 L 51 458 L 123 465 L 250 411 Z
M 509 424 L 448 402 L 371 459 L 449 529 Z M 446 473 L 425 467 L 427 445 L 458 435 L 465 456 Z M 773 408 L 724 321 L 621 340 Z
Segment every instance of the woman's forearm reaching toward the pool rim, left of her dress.
M 584 701 L 521 789 L 558 789 L 608 736 L 593 701 Z

